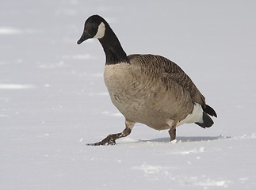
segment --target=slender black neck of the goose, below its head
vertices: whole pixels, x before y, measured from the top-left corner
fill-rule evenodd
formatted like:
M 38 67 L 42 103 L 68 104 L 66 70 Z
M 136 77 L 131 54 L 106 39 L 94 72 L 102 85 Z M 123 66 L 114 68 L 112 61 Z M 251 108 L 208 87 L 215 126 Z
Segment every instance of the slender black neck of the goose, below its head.
M 108 24 L 105 24 L 105 35 L 99 41 L 105 51 L 106 65 L 129 63 L 127 55 L 121 47 L 116 34 Z

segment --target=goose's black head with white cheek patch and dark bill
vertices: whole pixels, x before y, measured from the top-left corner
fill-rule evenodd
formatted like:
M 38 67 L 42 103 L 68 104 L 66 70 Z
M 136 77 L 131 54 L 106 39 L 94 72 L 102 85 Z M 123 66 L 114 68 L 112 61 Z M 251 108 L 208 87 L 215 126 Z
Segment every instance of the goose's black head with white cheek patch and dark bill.
M 82 32 L 81 38 L 78 40 L 78 44 L 90 38 L 101 39 L 105 36 L 105 25 L 108 25 L 104 18 L 93 15 L 90 16 L 86 22 Z

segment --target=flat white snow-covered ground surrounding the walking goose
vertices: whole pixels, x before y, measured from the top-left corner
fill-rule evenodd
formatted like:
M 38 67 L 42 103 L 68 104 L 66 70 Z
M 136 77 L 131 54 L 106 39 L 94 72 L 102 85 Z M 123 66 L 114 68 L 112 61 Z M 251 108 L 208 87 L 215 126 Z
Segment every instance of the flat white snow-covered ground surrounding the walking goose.
M 147 5 L 146 5 L 147 4 Z M 254 1 L 3 1 L 0 189 L 255 189 Z M 105 17 L 128 54 L 163 55 L 197 84 L 215 124 L 123 131 L 84 21 Z

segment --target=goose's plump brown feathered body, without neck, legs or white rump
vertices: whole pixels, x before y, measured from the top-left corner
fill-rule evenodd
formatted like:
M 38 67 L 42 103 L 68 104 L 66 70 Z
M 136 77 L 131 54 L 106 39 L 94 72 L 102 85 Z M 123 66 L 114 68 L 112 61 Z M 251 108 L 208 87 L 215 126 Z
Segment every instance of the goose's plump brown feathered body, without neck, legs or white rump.
M 170 129 L 204 97 L 178 65 L 159 55 L 129 55 L 130 63 L 105 66 L 105 85 L 126 120 L 156 130 Z

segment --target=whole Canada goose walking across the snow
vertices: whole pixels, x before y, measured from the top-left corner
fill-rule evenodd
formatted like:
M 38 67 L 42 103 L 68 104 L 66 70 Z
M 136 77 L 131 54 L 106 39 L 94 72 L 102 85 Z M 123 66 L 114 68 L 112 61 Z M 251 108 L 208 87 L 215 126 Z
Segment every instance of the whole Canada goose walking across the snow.
M 213 124 L 213 108 L 183 70 L 160 55 L 126 55 L 117 36 L 104 18 L 90 16 L 78 44 L 97 38 L 105 51 L 105 86 L 113 105 L 124 115 L 124 131 L 88 145 L 114 145 L 129 135 L 136 123 L 156 130 L 169 129 L 170 141 L 176 127 L 195 123 L 203 128 Z M 210 115 L 210 116 L 208 116 Z

